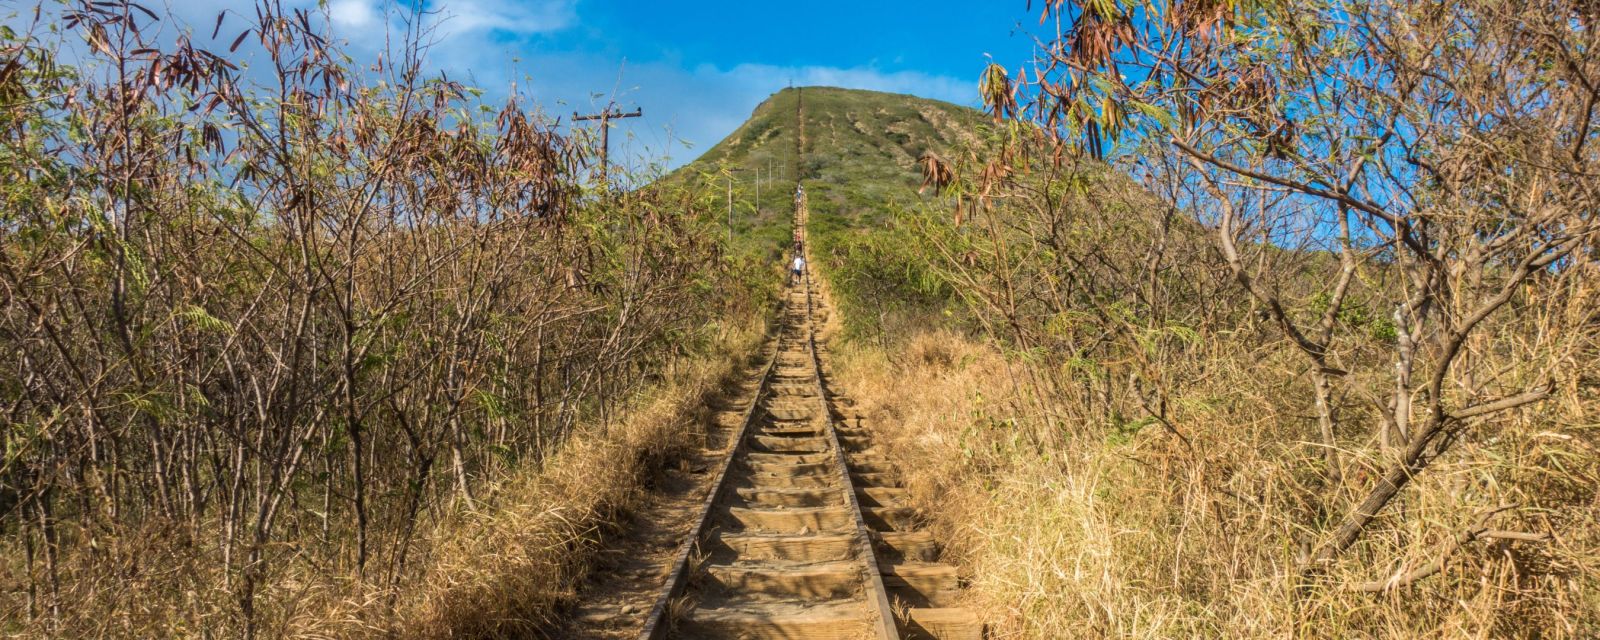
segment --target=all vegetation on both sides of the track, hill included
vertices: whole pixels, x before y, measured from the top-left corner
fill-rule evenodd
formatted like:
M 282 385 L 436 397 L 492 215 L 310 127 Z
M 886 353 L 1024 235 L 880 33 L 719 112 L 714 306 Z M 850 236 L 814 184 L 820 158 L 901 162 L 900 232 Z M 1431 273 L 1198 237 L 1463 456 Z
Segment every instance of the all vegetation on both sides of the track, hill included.
M 803 184 L 990 637 L 1600 637 L 1592 3 L 1056 0 L 987 112 L 790 88 L 632 192 L 277 6 L 0 29 L 0 635 L 552 634 Z

